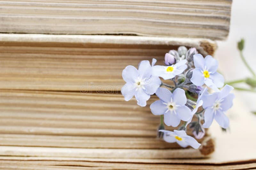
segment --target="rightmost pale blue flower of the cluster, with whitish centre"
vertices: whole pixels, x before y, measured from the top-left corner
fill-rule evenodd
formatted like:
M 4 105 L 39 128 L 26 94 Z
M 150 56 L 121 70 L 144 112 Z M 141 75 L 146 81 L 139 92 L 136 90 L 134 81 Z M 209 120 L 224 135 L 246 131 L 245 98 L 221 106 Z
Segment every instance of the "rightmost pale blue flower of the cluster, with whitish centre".
M 226 85 L 220 92 L 215 92 L 211 95 L 202 96 L 204 112 L 204 128 L 209 128 L 213 118 L 222 128 L 228 128 L 229 120 L 225 115 L 225 111 L 233 105 L 234 94 L 229 94 L 234 88 Z

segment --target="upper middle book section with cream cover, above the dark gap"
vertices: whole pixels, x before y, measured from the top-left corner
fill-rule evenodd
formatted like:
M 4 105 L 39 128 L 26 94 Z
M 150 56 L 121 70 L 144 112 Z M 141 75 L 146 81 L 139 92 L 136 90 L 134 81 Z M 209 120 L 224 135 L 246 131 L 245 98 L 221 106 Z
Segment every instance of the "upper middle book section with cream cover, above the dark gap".
M 120 91 L 122 70 L 178 46 L 213 55 L 209 39 L 141 36 L 0 34 L 0 89 Z

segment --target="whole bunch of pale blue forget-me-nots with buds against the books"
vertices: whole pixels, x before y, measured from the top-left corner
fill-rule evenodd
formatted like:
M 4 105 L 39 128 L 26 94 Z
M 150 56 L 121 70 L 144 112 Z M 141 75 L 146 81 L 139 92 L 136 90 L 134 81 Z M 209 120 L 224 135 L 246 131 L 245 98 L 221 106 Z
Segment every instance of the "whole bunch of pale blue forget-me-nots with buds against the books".
M 209 128 L 213 119 L 222 128 L 229 127 L 225 112 L 232 107 L 235 95 L 230 93 L 233 87 L 223 87 L 224 78 L 217 72 L 216 59 L 210 55 L 204 58 L 196 48 L 187 50 L 185 46 L 180 46 L 178 51 L 171 50 L 165 54 L 166 66 L 155 66 L 155 63 L 156 59 L 152 60 L 151 65 L 147 60 L 141 61 L 139 69 L 127 66 L 122 73 L 126 84 L 121 93 L 125 101 L 135 96 L 137 104 L 142 107 L 146 106 L 150 95 L 159 97 L 160 100 L 150 105 L 154 115 L 161 115 L 159 136 L 163 136 L 166 142 L 177 142 L 182 147 L 190 145 L 197 149 L 201 144 L 195 138 L 203 138 L 204 128 Z M 163 83 L 159 77 L 173 83 Z M 204 86 L 214 93 L 209 94 Z M 191 122 L 193 117 L 197 121 Z M 164 124 L 177 127 L 181 120 L 184 124 L 178 130 L 164 130 Z M 186 134 L 187 126 L 193 129 L 195 138 Z

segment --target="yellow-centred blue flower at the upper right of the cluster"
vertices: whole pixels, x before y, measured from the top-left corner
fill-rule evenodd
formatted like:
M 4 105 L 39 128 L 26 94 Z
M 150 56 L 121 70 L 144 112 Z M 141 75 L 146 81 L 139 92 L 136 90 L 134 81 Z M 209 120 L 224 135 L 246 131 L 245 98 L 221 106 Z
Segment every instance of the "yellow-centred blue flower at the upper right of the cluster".
M 212 56 L 207 55 L 205 58 L 201 54 L 194 55 L 193 75 L 191 82 L 196 86 L 206 84 L 215 91 L 220 91 L 218 88 L 223 87 L 224 78 L 217 72 L 218 61 Z

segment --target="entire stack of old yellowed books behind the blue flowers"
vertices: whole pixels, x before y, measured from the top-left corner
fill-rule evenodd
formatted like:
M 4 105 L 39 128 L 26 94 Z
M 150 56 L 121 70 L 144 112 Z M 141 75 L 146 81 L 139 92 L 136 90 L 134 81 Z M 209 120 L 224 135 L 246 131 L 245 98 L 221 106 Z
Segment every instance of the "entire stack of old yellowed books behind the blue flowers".
M 210 134 L 197 150 L 157 139 L 159 117 L 120 94 L 122 70 L 178 46 L 213 55 L 230 0 L 0 5 L 1 169 L 184 169 L 214 151 Z

